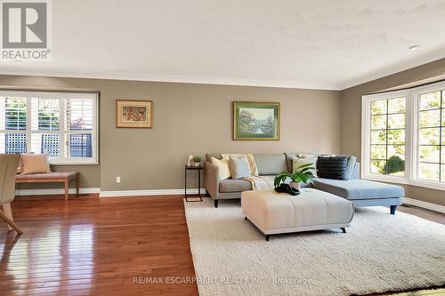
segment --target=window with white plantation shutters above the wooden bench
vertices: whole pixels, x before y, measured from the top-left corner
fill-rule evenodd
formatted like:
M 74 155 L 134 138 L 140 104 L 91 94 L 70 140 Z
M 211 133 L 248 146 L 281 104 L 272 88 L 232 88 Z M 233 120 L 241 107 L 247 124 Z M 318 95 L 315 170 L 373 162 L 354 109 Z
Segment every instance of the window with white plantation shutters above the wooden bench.
M 0 92 L 0 153 L 48 153 L 51 164 L 97 164 L 98 94 Z

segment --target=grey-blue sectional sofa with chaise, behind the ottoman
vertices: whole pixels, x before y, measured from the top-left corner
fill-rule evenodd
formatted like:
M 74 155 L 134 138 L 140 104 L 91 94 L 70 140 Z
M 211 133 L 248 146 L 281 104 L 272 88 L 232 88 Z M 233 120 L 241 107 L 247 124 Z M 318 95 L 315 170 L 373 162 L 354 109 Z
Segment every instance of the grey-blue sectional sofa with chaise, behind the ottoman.
M 279 172 L 292 172 L 292 157 L 296 153 L 254 154 L 255 163 L 260 175 L 273 176 Z M 221 154 L 207 154 L 204 165 L 204 187 L 207 195 L 214 199 L 218 207 L 221 199 L 240 198 L 241 192 L 251 190 L 247 180 L 219 180 L 218 168 L 210 162 L 211 156 L 221 159 Z M 318 178 L 314 180 L 313 188 L 342 196 L 356 207 L 384 205 L 390 206 L 390 212 L 395 213 L 397 205 L 401 204 L 404 190 L 401 186 L 360 180 L 360 164 L 354 156 L 348 156 L 348 180 L 333 180 Z

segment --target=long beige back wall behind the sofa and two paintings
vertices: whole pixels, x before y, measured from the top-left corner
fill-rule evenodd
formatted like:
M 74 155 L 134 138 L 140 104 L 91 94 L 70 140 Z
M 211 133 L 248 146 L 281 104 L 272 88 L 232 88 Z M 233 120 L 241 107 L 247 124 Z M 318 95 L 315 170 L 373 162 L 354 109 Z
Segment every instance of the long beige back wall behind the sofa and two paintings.
M 183 165 L 190 154 L 338 153 L 341 148 L 340 92 L 33 76 L 0 76 L 0 85 L 101 92 L 100 165 L 76 167 L 83 175 L 83 187 L 183 188 Z M 117 129 L 117 99 L 153 100 L 154 128 Z M 281 102 L 281 140 L 231 140 L 232 100 Z M 121 177 L 120 184 L 115 183 L 116 176 Z

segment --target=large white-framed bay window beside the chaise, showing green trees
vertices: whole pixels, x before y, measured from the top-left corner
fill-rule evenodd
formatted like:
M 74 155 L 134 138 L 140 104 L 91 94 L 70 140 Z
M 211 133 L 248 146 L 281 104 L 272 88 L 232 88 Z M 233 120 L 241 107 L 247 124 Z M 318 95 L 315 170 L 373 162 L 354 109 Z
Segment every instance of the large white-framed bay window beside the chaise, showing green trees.
M 445 190 L 445 82 L 362 97 L 362 177 Z

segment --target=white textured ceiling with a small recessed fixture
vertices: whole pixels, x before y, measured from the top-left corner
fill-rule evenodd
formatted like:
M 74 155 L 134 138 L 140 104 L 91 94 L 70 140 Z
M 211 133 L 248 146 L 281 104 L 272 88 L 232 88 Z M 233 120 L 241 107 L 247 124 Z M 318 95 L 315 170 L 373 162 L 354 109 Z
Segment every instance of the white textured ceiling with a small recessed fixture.
M 444 0 L 53 0 L 52 8 L 53 59 L 0 62 L 1 74 L 341 90 L 445 58 Z

